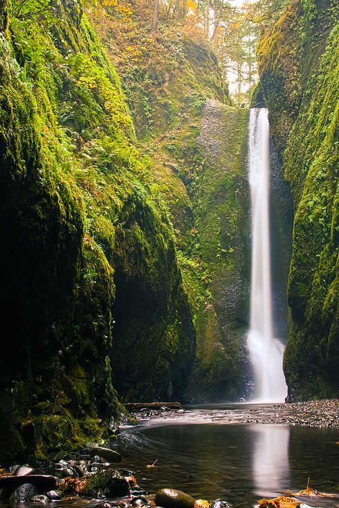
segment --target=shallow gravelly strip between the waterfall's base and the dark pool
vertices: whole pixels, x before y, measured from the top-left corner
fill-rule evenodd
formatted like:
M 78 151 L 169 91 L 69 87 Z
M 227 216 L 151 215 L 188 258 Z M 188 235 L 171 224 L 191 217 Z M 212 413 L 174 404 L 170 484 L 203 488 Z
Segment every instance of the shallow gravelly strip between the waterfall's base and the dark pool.
M 286 424 L 339 428 L 339 399 L 311 400 L 288 404 L 229 404 L 226 406 L 183 406 L 134 413 L 139 424 Z

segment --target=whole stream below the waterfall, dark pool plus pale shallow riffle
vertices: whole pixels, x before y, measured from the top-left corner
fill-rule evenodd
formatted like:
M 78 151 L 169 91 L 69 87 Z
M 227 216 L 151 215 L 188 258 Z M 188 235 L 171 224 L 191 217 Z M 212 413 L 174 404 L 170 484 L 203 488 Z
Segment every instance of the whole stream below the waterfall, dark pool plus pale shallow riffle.
M 324 424 L 331 408 L 338 413 L 338 402 L 321 403 L 322 426 L 314 426 L 318 421 L 314 411 L 312 420 L 309 417 L 313 426 L 291 424 L 293 407 L 299 411 L 295 421 L 307 424 L 300 415 L 306 419 L 306 408 L 311 411 L 316 404 L 190 406 L 150 417 L 145 412 L 138 426 L 122 427 L 118 437 L 122 462 L 112 467 L 132 471 L 148 494 L 172 487 L 196 499 L 221 498 L 235 508 L 254 507 L 264 497 L 291 495 L 288 489 L 293 493 L 305 489 L 309 478 L 309 487 L 332 496 L 300 500 L 312 507 L 339 508 L 339 425 L 336 420 Z M 285 419 L 290 424 L 270 423 Z M 147 467 L 151 464 L 154 467 Z M 71 495 L 53 504 L 94 508 L 98 500 Z M 13 506 L 0 501 L 0 508 Z

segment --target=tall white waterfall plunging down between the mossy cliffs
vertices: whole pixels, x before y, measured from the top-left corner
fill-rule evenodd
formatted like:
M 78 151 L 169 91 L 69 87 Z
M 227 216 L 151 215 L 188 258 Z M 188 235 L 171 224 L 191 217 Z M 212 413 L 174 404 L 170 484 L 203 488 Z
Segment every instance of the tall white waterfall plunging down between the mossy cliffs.
M 257 402 L 284 402 L 284 346 L 273 337 L 270 261 L 270 127 L 267 110 L 250 110 L 250 191 L 252 203 L 252 277 L 248 350 L 255 370 Z

